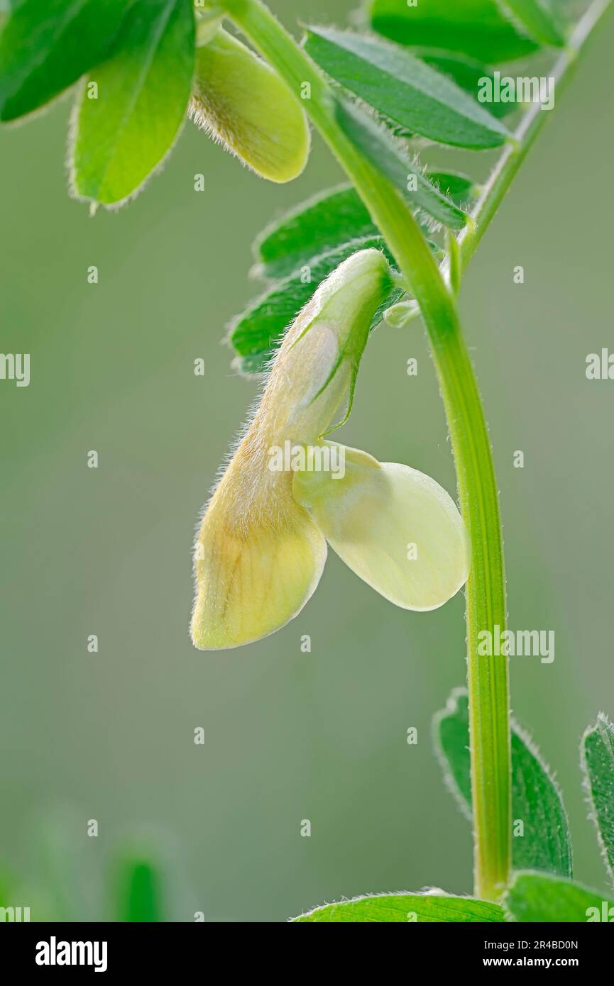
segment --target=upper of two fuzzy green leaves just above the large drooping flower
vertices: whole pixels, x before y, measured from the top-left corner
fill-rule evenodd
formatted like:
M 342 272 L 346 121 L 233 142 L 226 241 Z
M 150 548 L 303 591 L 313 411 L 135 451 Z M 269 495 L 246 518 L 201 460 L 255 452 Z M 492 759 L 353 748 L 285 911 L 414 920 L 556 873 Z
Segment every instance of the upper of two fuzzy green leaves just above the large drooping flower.
M 269 224 L 255 244 L 264 277 L 286 277 L 319 253 L 350 240 L 379 236 L 352 185 L 324 191 Z

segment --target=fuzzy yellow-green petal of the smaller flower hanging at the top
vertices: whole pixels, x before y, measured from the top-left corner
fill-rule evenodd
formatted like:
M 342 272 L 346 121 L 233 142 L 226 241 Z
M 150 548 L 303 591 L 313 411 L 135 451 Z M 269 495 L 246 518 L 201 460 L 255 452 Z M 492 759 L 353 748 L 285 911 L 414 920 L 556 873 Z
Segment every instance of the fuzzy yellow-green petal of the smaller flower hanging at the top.
M 301 106 L 267 62 L 222 29 L 196 48 L 190 111 L 198 126 L 270 181 L 290 181 L 307 164 Z

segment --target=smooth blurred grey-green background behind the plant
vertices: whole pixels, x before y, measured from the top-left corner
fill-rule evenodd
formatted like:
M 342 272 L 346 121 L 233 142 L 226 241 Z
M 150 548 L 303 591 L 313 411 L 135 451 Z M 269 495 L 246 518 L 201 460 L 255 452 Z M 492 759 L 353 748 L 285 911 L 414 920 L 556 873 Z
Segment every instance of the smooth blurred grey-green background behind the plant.
M 343 24 L 354 6 L 272 4 L 288 25 Z M 499 471 L 510 625 L 556 631 L 554 664 L 512 659 L 513 710 L 556 769 L 576 875 L 596 886 L 577 749 L 599 709 L 614 714 L 614 384 L 588 382 L 584 361 L 614 350 L 613 44 L 610 17 L 461 298 Z M 207 655 L 188 637 L 194 524 L 256 393 L 230 370 L 224 326 L 260 290 L 254 236 L 337 166 L 316 139 L 306 173 L 273 186 L 187 124 L 144 194 L 91 219 L 66 194 L 69 107 L 0 131 L 0 348 L 32 354 L 30 387 L 0 382 L 2 861 L 33 901 L 59 869 L 65 906 L 52 897 L 38 914 L 81 920 L 107 913 L 100 875 L 126 839 L 160 847 L 172 920 L 283 921 L 365 891 L 470 891 L 469 827 L 430 740 L 464 680 L 462 596 L 408 613 L 331 553 L 314 598 L 268 640 Z M 418 323 L 372 338 L 343 440 L 453 491 Z

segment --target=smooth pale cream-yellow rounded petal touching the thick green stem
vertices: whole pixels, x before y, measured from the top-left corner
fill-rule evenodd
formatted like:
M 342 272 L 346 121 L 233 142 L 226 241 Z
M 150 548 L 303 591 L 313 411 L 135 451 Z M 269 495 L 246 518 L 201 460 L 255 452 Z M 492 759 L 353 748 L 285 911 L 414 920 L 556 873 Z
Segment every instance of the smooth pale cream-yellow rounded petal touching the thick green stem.
M 296 472 L 294 495 L 345 564 L 406 609 L 435 609 L 469 575 L 465 526 L 430 476 L 345 449 L 345 476 Z

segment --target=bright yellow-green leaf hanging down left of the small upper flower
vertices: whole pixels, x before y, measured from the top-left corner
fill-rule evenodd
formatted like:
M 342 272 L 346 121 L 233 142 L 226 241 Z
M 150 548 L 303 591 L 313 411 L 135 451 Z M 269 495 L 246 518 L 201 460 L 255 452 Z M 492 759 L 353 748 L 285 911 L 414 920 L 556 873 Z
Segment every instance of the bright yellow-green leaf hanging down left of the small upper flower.
M 114 57 L 83 87 L 72 147 L 78 197 L 120 204 L 160 165 L 186 119 L 193 61 L 191 0 L 136 0 Z

